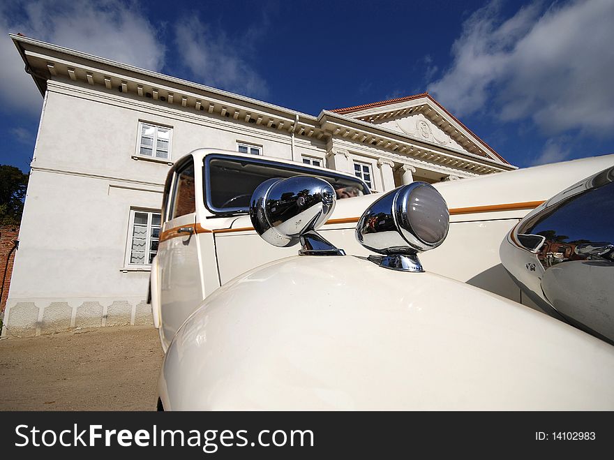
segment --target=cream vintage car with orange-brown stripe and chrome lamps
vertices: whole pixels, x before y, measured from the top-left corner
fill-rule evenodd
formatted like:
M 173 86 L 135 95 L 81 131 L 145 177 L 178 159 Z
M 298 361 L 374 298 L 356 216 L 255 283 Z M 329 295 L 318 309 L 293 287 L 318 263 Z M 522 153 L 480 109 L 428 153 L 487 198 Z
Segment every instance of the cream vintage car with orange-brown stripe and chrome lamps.
M 325 168 L 193 151 L 168 176 L 151 270 L 159 408 L 613 410 L 607 334 L 573 312 L 559 317 L 602 339 L 549 316 L 558 304 L 527 295 L 536 283 L 499 255 L 518 228 L 534 231 L 528 212 L 548 214 L 546 199 L 613 164 L 381 195 Z M 599 243 L 575 243 L 586 264 L 612 262 Z M 536 257 L 535 246 L 514 251 Z

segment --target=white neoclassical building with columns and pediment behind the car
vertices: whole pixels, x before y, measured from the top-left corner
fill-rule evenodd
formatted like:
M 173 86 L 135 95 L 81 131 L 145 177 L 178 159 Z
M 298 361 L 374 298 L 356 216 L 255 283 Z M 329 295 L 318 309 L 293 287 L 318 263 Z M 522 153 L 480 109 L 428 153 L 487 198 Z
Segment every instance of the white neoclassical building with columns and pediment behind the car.
M 151 323 L 170 165 L 214 147 L 351 172 L 375 192 L 515 169 L 428 94 L 317 116 L 11 35 L 44 98 L 3 336 Z M 27 75 L 24 75 L 26 78 Z

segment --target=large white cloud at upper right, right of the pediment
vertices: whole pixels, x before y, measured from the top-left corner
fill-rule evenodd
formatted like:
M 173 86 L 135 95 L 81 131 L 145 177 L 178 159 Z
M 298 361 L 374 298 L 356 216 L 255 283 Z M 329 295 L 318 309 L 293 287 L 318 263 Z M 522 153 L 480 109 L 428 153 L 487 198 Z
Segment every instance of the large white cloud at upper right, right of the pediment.
M 614 135 L 614 2 L 539 2 L 500 15 L 493 1 L 467 19 L 451 67 L 428 91 L 460 116 L 531 118 L 548 135 Z M 544 155 L 552 151 L 546 145 Z

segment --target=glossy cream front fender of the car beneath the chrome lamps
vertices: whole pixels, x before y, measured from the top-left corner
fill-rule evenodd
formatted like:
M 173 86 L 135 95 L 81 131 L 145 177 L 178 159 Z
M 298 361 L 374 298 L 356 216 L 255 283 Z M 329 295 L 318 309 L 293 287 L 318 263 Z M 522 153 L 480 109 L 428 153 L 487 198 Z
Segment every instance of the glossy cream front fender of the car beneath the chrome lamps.
M 432 273 L 294 256 L 179 329 L 166 410 L 613 410 L 614 347 Z

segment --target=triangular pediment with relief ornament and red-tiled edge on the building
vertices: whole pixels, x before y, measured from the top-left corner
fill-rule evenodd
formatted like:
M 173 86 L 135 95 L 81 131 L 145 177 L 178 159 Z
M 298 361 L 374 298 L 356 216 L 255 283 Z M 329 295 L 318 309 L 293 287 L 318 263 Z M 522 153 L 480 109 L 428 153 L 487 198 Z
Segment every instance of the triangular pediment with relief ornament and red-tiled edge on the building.
M 507 163 L 428 94 L 336 109 L 334 112 L 396 131 L 413 140 Z

